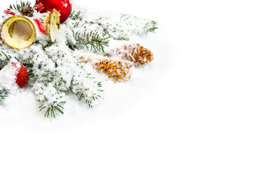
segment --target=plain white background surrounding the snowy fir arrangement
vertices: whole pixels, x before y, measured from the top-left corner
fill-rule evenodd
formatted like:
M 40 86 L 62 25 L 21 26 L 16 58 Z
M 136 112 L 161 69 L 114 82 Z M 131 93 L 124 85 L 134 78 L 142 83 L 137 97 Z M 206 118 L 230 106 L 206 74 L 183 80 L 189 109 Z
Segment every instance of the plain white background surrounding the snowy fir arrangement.
M 154 64 L 55 120 L 33 113 L 31 94 L 8 98 L 0 169 L 256 169 L 254 1 L 74 1 L 158 21 L 144 38 Z

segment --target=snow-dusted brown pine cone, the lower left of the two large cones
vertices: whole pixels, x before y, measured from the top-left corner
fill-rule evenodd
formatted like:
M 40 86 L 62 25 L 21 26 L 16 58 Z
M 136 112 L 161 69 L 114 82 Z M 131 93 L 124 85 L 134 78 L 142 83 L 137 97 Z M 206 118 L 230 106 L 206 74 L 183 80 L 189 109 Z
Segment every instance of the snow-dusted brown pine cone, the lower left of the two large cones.
M 130 79 L 130 68 L 133 66 L 132 63 L 126 61 L 111 60 L 108 58 L 102 58 L 99 60 L 85 60 L 84 57 L 80 57 L 82 62 L 91 62 L 92 66 L 100 72 L 107 74 L 107 76 L 114 81 L 127 81 Z

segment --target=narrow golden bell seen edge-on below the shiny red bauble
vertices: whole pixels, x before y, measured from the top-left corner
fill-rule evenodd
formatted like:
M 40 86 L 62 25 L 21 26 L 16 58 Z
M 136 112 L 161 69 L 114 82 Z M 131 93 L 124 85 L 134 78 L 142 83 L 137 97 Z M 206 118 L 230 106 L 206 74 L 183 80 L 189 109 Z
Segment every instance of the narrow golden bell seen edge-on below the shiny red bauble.
M 58 37 L 58 30 L 60 30 L 60 13 L 52 11 L 46 19 L 46 33 L 52 42 Z

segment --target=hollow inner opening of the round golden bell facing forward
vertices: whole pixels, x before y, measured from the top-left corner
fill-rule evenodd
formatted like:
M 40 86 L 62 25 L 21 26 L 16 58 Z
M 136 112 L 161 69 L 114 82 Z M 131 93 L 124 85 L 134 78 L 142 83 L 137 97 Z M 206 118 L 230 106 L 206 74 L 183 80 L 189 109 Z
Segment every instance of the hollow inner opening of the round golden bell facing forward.
M 22 42 L 31 38 L 33 30 L 28 22 L 20 20 L 10 24 L 8 33 L 11 38 L 18 42 Z

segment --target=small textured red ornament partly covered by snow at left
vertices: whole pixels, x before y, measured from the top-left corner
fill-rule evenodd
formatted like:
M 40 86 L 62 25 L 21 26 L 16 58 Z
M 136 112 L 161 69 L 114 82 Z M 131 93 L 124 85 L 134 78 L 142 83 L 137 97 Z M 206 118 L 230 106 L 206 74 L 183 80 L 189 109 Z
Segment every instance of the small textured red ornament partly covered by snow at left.
M 18 66 L 19 64 L 19 66 Z M 12 63 L 14 67 L 18 67 L 18 73 L 16 74 L 16 84 L 22 88 L 28 83 L 28 70 L 21 63 Z

